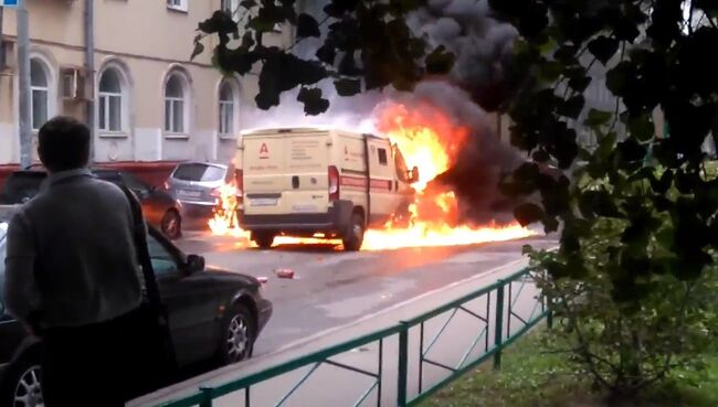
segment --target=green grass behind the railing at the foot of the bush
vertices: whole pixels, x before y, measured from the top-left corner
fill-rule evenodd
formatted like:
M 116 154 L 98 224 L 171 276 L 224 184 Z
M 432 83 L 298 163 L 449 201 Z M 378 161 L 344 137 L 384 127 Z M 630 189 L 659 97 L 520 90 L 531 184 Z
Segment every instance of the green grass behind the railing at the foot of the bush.
M 421 407 L 605 407 L 563 355 L 541 349 L 540 334 L 530 334 L 504 354 L 501 371 L 481 366 Z M 718 406 L 718 352 L 706 355 L 705 363 L 701 371 L 674 372 L 636 407 Z

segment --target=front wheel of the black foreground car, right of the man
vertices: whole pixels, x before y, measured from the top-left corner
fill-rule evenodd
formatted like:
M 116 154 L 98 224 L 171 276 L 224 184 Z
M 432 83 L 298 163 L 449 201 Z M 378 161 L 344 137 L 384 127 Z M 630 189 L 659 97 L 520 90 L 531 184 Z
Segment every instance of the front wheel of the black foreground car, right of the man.
M 242 304 L 234 304 L 229 309 L 222 323 L 222 364 L 241 362 L 252 356 L 256 336 L 255 321 L 256 318 Z

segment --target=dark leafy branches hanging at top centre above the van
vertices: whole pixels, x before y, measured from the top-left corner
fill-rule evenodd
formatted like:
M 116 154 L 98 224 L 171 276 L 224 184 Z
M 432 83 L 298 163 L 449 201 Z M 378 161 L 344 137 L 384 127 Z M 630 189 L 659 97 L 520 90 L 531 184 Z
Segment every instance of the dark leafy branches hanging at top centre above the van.
M 321 79 L 334 79 L 338 95 L 352 96 L 387 86 L 411 90 L 425 75 L 451 71 L 453 55 L 443 46 L 430 49 L 406 25 L 406 14 L 420 4 L 419 0 L 332 0 L 317 21 L 307 13 L 297 15 L 294 0 L 242 1 L 233 15 L 217 11 L 199 24 L 192 56 L 204 51 L 205 35 L 215 35 L 213 61 L 220 69 L 245 75 L 258 67 L 257 107 L 277 106 L 283 92 L 299 87 L 297 100 L 305 113 L 318 115 L 329 107 L 316 87 Z M 233 17 L 240 17 L 239 23 Z M 284 50 L 265 44 L 266 35 L 283 24 L 295 28 L 297 42 L 321 38 L 321 46 L 315 55 L 302 57 L 293 52 L 294 45 Z

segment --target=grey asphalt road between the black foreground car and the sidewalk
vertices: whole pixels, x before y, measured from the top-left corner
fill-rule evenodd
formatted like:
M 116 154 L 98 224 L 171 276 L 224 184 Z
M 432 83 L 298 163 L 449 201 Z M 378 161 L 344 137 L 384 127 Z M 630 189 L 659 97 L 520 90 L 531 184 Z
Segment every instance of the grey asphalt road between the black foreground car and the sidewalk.
M 274 303 L 255 347 L 273 353 L 328 330 L 340 329 L 456 281 L 489 272 L 521 257 L 521 247 L 551 247 L 550 237 L 443 248 L 338 251 L 332 245 L 242 248 L 236 239 L 189 233 L 178 242 L 208 265 L 267 277 L 264 294 Z M 294 279 L 279 279 L 291 268 Z

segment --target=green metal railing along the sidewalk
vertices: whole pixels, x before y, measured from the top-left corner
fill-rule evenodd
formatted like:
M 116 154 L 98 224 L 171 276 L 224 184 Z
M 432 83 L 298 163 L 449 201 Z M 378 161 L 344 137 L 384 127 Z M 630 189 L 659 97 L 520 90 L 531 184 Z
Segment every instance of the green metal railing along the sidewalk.
M 478 307 L 476 307 L 476 303 L 478 303 Z M 534 283 L 530 271 L 526 269 L 520 270 L 488 287 L 483 287 L 479 290 L 408 321 L 402 321 L 387 329 L 296 357 L 228 383 L 211 387 L 201 387 L 186 397 L 163 403 L 156 407 L 212 407 L 213 403 L 215 403 L 214 400 L 228 395 L 241 397 L 244 407 L 252 407 L 256 405 L 253 404 L 252 387 L 263 384 L 266 385 L 267 381 L 286 374 L 300 373 L 299 371 L 306 369 L 299 376 L 298 381 L 293 382 L 294 385 L 286 393 L 279 396 L 276 401 L 272 401 L 274 407 L 282 407 L 321 366 L 337 367 L 370 379 L 369 386 L 361 392 L 353 404 L 350 404 L 351 401 L 348 400 L 347 406 L 359 407 L 368 405 L 370 401 L 369 397 L 372 394 L 376 395 L 376 403 L 371 400 L 371 405 L 376 404 L 378 407 L 416 406 L 436 390 L 446 386 L 450 382 L 476 367 L 478 364 L 488 361 L 490 357 L 494 358 L 494 368 L 500 368 L 501 352 L 504 349 L 524 335 L 545 317 L 548 317 L 547 322 L 550 324 L 551 319 L 548 303 L 548 300 L 540 294 Z M 526 312 L 529 309 L 530 312 Z M 445 315 L 448 317 L 446 318 Z M 433 356 L 432 351 L 442 339 L 447 338 L 447 328 L 458 318 L 457 315 L 463 315 L 463 318 L 468 318 L 477 322 L 481 329 L 471 339 L 468 347 L 456 354 L 458 356 L 458 363 L 450 365 L 450 363 L 440 361 Z M 426 341 L 426 333 L 431 330 L 429 325 L 441 321 L 443 323 L 439 325 L 431 339 Z M 465 324 L 462 324 L 462 326 L 465 326 Z M 419 338 L 415 341 L 418 345 L 412 345 L 411 334 L 415 333 L 415 331 L 419 331 Z M 386 351 L 387 341 L 397 342 L 395 376 L 386 374 L 384 365 L 387 362 L 384 357 L 388 356 L 388 352 Z M 351 366 L 348 363 L 336 360 L 341 355 L 368 345 L 376 345 L 377 347 L 378 357 L 374 369 Z M 414 372 L 410 372 L 410 351 L 412 350 L 418 351 L 415 374 Z M 391 354 L 389 354 L 389 357 L 391 357 Z M 430 366 L 434 368 L 434 373 L 441 371 L 447 374 L 433 383 L 429 383 L 427 386 L 425 382 L 431 381 L 427 381 L 426 369 Z M 410 395 L 412 393 L 410 389 L 410 378 L 416 381 L 412 382 L 412 386 L 414 386 L 412 388 L 416 389 L 416 392 L 413 392 L 415 393 L 413 396 Z M 384 386 L 393 383 L 397 384 L 395 389 L 393 389 L 395 399 L 391 396 L 388 397 L 383 393 Z M 304 405 L 321 406 L 319 403 L 304 403 Z M 240 406 L 240 404 L 233 399 L 232 406 Z M 338 406 L 332 405 L 332 407 Z

